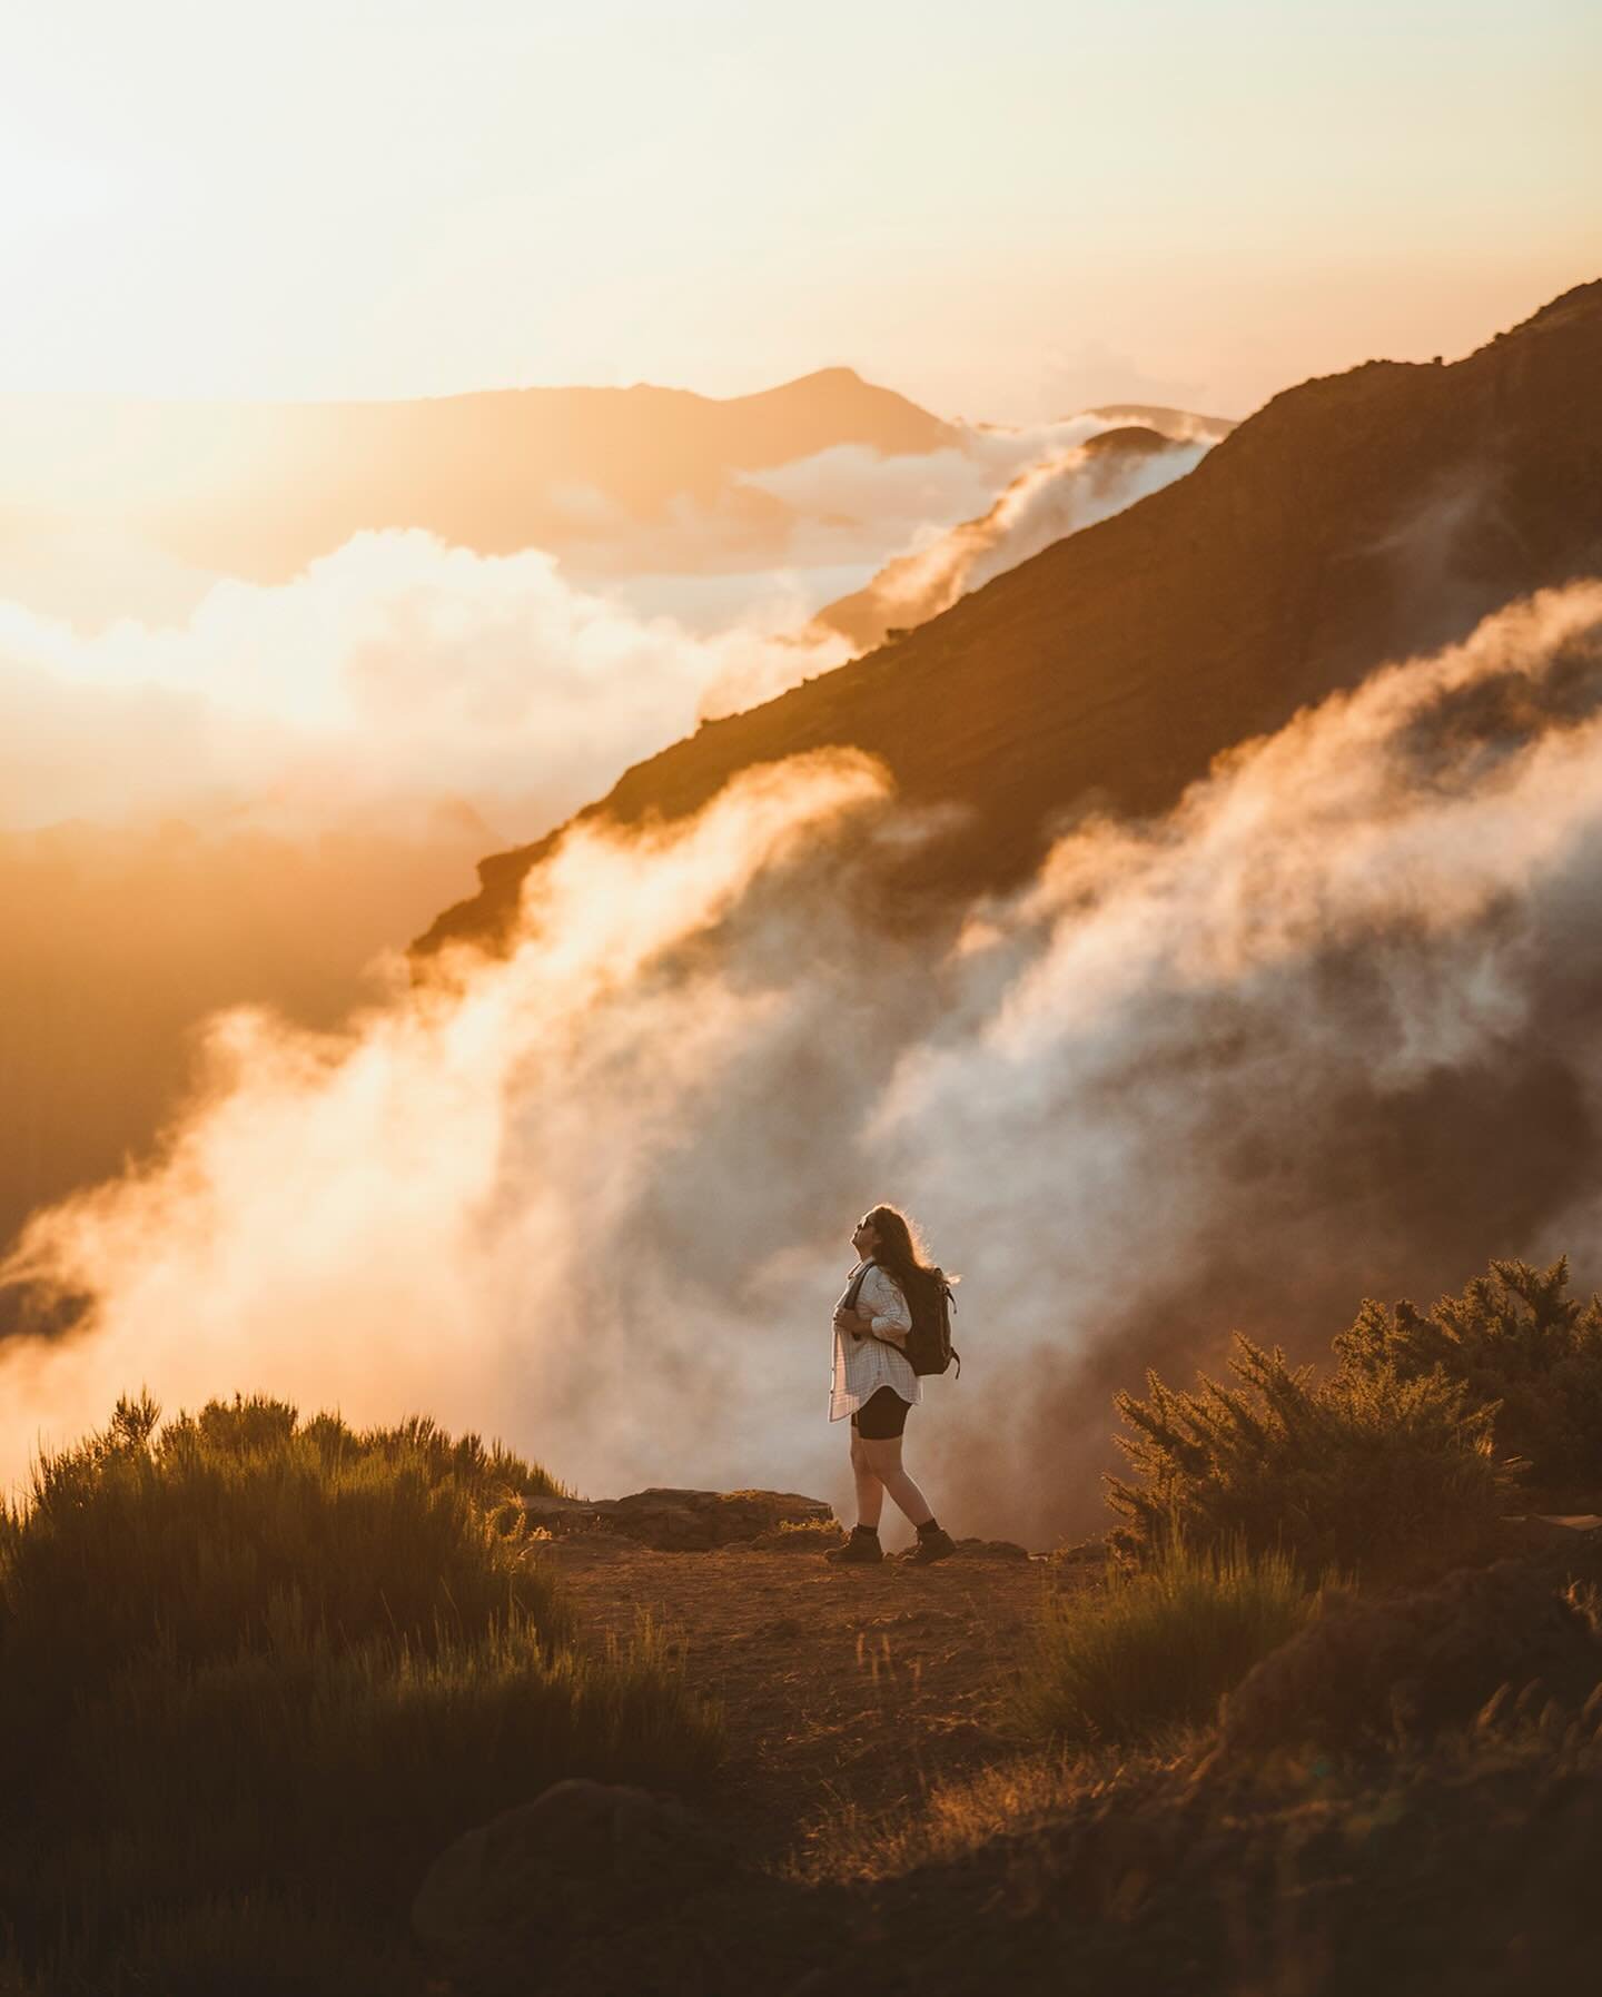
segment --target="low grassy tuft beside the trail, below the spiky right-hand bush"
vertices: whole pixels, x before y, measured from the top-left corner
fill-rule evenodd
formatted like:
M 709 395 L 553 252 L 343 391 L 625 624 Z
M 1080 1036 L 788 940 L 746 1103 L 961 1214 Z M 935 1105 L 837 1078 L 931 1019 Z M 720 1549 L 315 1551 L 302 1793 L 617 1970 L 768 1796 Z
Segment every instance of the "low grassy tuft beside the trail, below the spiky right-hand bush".
M 1284 1554 L 1169 1538 L 1149 1566 L 1111 1564 L 1103 1588 L 1043 1610 L 1011 1717 L 1033 1739 L 1075 1747 L 1202 1725 L 1316 1610 Z

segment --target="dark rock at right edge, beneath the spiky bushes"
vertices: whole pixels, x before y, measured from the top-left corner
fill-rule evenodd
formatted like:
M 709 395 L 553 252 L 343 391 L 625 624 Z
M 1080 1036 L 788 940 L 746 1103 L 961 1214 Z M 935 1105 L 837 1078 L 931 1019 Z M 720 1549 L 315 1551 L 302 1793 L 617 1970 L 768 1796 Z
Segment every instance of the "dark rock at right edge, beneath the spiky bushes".
M 1430 1588 L 1346 1600 L 1254 1665 L 1224 1699 L 1220 1747 L 1360 1747 L 1464 1725 L 1508 1685 L 1580 1707 L 1602 1642 L 1562 1566 L 1498 1560 Z

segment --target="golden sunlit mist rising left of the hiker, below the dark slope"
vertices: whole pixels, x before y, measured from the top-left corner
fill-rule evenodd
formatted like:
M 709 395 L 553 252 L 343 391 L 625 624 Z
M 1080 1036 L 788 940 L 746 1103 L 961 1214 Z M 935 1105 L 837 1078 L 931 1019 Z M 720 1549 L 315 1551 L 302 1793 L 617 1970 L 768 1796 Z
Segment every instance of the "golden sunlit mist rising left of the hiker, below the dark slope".
M 651 1244 L 621 1236 L 783 1008 L 697 963 L 697 941 L 879 791 L 863 757 L 835 753 L 747 775 L 685 829 L 573 833 L 531 881 L 505 965 L 475 961 L 348 1032 L 220 1016 L 166 1156 L 24 1236 L 20 1274 L 98 1302 L 78 1336 L 0 1346 L 6 1470 L 132 1374 L 168 1400 L 276 1382 L 356 1416 L 427 1402 L 455 1424 L 483 1420 L 485 1392 L 533 1392 L 551 1440 L 571 1446 L 581 1424 L 601 1460 L 637 1452 L 673 1404 L 689 1416 L 731 1392 L 739 1354 L 703 1378 L 705 1328 L 679 1300 L 651 1314 L 641 1394 L 609 1416 L 595 1402 L 645 1322 L 617 1306 L 649 1286 Z M 745 1346 L 757 1372 L 771 1354 Z

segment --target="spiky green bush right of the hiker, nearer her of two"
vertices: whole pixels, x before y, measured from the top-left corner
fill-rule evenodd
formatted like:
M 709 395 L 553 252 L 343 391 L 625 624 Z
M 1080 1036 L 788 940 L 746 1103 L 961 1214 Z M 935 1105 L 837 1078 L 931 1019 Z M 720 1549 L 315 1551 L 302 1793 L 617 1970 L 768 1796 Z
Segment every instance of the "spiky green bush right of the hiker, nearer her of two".
M 1173 1530 L 1189 1542 L 1282 1548 L 1306 1578 L 1328 1568 L 1402 1578 L 1468 1558 L 1508 1508 L 1512 1468 L 1492 1454 L 1492 1408 L 1462 1382 L 1346 1366 L 1322 1384 L 1236 1334 L 1234 1386 L 1195 1392 L 1147 1376 L 1117 1396 L 1119 1436 L 1139 1482 L 1109 1478 L 1121 1552 L 1151 1558 Z

